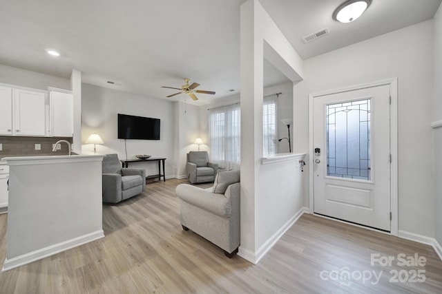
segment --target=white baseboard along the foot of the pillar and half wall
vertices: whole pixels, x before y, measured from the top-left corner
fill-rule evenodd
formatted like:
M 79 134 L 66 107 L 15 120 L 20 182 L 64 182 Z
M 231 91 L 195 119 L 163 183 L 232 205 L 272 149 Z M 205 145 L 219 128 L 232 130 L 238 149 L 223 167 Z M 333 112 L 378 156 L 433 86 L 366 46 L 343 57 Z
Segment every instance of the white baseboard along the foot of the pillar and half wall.
M 256 252 L 251 252 L 247 249 L 242 249 L 241 246 L 238 249 L 238 255 L 240 255 L 245 260 L 253 264 L 258 264 L 258 262 L 263 258 L 267 252 L 273 247 L 278 240 L 284 235 L 284 233 L 290 229 L 290 227 L 302 216 L 303 213 L 309 213 L 307 207 L 302 207 L 298 212 L 295 213 L 276 233 L 274 233 Z

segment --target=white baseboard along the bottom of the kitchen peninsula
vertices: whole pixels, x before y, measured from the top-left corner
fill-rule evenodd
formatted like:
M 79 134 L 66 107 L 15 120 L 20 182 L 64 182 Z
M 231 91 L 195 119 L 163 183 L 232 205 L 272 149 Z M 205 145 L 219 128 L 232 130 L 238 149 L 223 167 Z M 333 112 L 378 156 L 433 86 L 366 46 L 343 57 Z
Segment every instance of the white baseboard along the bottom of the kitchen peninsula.
M 3 264 L 3 269 L 1 271 L 9 271 L 10 269 L 15 269 L 18 266 L 22 266 L 30 262 L 35 262 L 36 260 L 41 260 L 42 258 L 46 258 L 50 255 L 60 253 L 61 251 L 66 251 L 68 249 L 86 244 L 88 242 L 92 242 L 103 237 L 103 230 L 99 230 L 42 249 L 38 249 L 36 251 L 32 251 L 30 253 L 19 255 L 15 258 L 6 258 L 5 263 Z

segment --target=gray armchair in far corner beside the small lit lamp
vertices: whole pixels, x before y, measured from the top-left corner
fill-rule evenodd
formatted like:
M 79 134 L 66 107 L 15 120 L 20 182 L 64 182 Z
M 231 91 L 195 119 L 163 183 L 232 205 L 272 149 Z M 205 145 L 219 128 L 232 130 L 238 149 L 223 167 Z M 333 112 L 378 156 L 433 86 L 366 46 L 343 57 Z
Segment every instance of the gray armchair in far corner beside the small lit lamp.
M 190 151 L 187 154 L 186 172 L 189 182 L 213 182 L 218 163 L 209 162 L 207 151 Z

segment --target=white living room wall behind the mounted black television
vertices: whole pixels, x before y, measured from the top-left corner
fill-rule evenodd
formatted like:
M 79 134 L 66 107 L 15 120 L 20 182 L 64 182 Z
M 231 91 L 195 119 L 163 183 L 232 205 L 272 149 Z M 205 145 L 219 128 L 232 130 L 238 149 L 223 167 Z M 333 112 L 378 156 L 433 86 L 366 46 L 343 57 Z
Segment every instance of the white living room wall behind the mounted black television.
M 125 159 L 124 140 L 117 138 L 117 114 L 160 118 L 160 140 L 127 140 L 127 156 L 148 154 L 165 157 L 166 178 L 175 176 L 175 111 L 171 101 L 148 98 L 83 83 L 81 85 L 81 142 L 90 134 L 99 134 L 104 145 L 97 145 L 99 154 L 118 154 Z M 93 153 L 93 145 L 82 146 L 82 153 Z M 152 162 L 137 162 L 130 167 L 144 168 L 146 174 L 158 174 Z

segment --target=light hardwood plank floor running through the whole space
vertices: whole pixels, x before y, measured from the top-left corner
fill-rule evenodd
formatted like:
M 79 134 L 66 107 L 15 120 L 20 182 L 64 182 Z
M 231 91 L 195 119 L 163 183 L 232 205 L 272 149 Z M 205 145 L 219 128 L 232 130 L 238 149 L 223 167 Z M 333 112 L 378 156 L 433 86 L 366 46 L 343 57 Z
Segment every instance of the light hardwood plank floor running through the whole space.
M 182 231 L 174 193 L 182 182 L 155 182 L 140 196 L 104 205 L 105 238 L 0 273 L 0 293 L 442 293 L 442 262 L 432 247 L 318 216 L 303 215 L 258 265 L 229 260 Z M 1 215 L 1 262 L 6 222 Z M 372 266 L 372 253 L 395 260 Z M 425 257 L 425 266 L 398 265 L 400 253 Z M 415 280 L 425 282 L 400 282 L 417 270 L 424 272 Z M 390 282 L 394 271 L 398 282 Z M 349 279 L 339 278 L 345 273 Z

